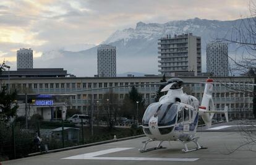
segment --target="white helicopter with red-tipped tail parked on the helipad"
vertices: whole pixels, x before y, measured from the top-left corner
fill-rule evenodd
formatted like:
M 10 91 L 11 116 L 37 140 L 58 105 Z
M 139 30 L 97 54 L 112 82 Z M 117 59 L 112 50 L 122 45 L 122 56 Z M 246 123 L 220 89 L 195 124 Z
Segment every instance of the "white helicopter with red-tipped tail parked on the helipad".
M 224 113 L 228 122 L 228 107 L 224 111 L 216 111 L 212 99 L 213 80 L 207 79 L 203 93 L 202 103 L 199 106 L 197 98 L 186 95 L 182 89 L 183 81 L 181 78 L 171 78 L 161 91 L 168 91 L 157 103 L 152 103 L 146 109 L 143 119 L 143 132 L 149 138 L 142 142 L 143 147 L 140 152 L 157 150 L 163 148 L 161 143 L 164 141 L 177 141 L 184 144 L 184 153 L 195 151 L 202 148 L 199 145 L 197 132 L 198 117 L 202 116 L 205 125 L 211 127 L 211 119 L 215 113 Z M 146 148 L 147 144 L 159 141 L 154 148 Z M 194 142 L 196 148 L 187 148 L 187 143 Z

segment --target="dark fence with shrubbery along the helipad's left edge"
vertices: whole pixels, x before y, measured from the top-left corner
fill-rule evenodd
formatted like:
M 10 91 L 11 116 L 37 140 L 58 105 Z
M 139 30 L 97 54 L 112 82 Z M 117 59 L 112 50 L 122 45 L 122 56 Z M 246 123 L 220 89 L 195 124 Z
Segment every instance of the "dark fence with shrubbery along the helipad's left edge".
M 117 127 L 112 127 L 117 125 Z M 101 142 L 142 134 L 142 129 L 131 124 L 72 124 L 66 121 L 24 121 L 11 124 L 0 122 L 0 161 L 23 158 L 30 153 L 44 152 L 69 146 Z

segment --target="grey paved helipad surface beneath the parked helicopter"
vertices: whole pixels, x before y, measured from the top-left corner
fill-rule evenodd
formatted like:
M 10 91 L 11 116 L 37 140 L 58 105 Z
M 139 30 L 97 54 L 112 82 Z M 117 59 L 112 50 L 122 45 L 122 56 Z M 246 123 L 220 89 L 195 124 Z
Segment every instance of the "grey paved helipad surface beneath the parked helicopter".
M 223 124 L 215 125 L 221 127 Z M 226 124 L 227 125 L 227 124 Z M 229 124 L 230 125 L 230 124 Z M 221 127 L 214 132 L 198 132 L 198 142 L 207 149 L 197 150 L 190 153 L 182 153 L 183 145 L 179 142 L 164 142 L 161 150 L 153 150 L 140 153 L 142 141 L 147 137 L 135 138 L 121 142 L 107 143 L 104 145 L 90 146 L 75 150 L 62 151 L 58 153 L 43 154 L 30 158 L 5 161 L 2 164 L 255 164 L 256 144 L 239 146 L 247 143 L 243 132 L 231 132 L 233 127 Z M 234 127 L 237 128 L 237 127 Z M 216 132 L 229 129 L 229 132 Z M 153 142 L 149 146 L 153 147 Z M 189 145 L 193 147 L 193 144 Z M 234 153 L 232 151 L 236 150 Z

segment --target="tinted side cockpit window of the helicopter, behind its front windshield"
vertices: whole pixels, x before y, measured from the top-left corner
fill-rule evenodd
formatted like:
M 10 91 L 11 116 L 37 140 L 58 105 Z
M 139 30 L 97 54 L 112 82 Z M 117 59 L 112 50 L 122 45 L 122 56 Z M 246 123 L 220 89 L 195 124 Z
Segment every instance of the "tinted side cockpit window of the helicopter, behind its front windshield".
M 158 117 L 158 126 L 175 124 L 178 106 L 179 103 L 162 104 L 160 111 L 156 114 Z

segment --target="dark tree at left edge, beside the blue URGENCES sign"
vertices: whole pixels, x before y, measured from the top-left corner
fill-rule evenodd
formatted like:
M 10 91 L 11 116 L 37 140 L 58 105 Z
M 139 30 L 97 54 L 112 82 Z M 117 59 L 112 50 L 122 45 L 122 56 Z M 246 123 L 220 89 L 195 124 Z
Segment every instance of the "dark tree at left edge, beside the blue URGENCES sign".
M 7 87 L 3 86 L 0 91 L 0 119 L 3 121 L 9 121 L 11 117 L 14 117 L 17 113 L 19 106 L 15 102 L 17 99 L 17 91 L 7 92 Z

